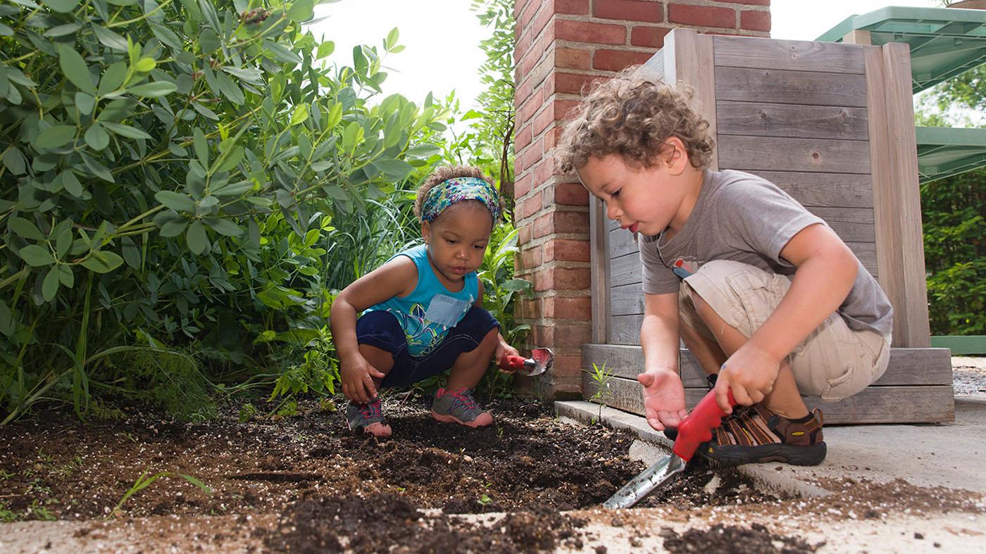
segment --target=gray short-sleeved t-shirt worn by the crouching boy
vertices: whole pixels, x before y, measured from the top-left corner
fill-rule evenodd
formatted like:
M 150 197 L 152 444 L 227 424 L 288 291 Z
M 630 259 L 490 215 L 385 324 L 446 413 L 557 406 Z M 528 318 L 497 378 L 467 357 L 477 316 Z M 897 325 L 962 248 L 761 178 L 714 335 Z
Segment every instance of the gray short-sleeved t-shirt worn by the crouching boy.
M 781 249 L 801 230 L 825 222 L 776 184 L 749 173 L 706 170 L 688 221 L 669 241 L 639 238 L 644 292 L 676 293 L 681 280 L 705 262 L 740 261 L 793 278 L 797 269 Z M 890 335 L 893 309 L 877 280 L 857 260 L 859 271 L 839 314 L 854 330 Z

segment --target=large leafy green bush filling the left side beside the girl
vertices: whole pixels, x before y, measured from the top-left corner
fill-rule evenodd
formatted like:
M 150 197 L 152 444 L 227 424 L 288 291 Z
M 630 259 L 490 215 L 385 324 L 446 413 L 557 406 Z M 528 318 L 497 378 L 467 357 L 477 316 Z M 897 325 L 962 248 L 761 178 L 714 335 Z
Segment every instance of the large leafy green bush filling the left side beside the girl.
M 313 6 L 0 6 L 6 421 L 50 392 L 84 415 L 121 345 L 194 342 L 207 378 L 318 335 L 333 222 L 437 161 L 423 137 L 444 113 L 368 103 L 396 32 L 326 65 L 334 44 L 301 26 Z

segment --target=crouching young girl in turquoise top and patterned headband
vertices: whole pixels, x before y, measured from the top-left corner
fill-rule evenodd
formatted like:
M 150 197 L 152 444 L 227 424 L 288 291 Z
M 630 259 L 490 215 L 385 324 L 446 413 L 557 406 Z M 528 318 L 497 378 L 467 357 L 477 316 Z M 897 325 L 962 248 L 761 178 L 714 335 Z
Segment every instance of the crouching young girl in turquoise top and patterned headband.
M 482 309 L 483 284 L 476 276 L 500 213 L 500 195 L 478 168 L 432 173 L 414 202 L 425 243 L 394 255 L 336 297 L 329 322 L 351 430 L 389 436 L 377 391 L 450 367 L 432 416 L 469 427 L 493 423 L 472 388 L 491 357 L 499 363 L 504 354 L 518 355 L 500 334 L 500 323 Z

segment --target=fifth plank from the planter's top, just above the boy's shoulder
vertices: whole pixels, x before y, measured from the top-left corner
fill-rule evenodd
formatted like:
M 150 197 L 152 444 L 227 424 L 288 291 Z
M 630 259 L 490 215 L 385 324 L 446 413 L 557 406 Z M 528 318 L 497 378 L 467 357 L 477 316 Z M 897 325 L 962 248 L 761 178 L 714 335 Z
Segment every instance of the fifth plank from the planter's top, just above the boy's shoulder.
M 872 156 L 872 155 L 871 155 Z M 873 180 L 864 173 L 755 173 L 781 187 L 806 207 L 872 208 Z

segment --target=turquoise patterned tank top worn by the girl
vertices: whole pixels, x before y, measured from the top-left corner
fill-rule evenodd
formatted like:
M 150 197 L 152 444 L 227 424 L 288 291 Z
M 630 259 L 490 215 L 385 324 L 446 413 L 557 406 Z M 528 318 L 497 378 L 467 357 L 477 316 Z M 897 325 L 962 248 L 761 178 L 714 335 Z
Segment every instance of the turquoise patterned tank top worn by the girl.
M 418 285 L 406 297 L 390 297 L 367 312 L 393 313 L 407 337 L 407 351 L 411 356 L 427 356 L 476 303 L 479 278 L 475 271 L 466 273 L 465 285 L 454 293 L 438 280 L 424 244 L 398 252 L 390 259 L 397 256 L 411 258 L 418 267 Z

